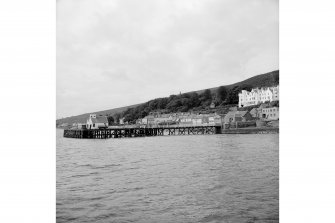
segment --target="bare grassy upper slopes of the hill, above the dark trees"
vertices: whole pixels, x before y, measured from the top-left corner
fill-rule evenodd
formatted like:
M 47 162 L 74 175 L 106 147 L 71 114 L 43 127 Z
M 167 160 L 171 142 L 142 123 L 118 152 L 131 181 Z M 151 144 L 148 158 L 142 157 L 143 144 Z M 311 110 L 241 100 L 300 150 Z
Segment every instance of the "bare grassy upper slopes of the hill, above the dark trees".
M 279 70 L 276 71 L 272 71 L 269 73 L 265 73 L 265 74 L 260 74 L 254 77 L 251 77 L 249 79 L 246 79 L 244 81 L 235 83 L 235 84 L 231 84 L 231 85 L 226 85 L 225 87 L 227 89 L 232 89 L 235 86 L 251 86 L 253 88 L 255 87 L 268 87 L 268 86 L 274 86 L 279 84 Z M 212 91 L 212 93 L 215 93 L 216 90 L 218 89 L 218 87 L 215 88 L 211 88 L 210 90 Z M 201 94 L 203 90 L 199 90 L 196 91 L 198 94 Z M 104 110 L 104 111 L 98 111 L 98 112 L 94 112 L 97 115 L 106 115 L 106 114 L 116 114 L 116 113 L 120 113 L 123 112 L 125 110 L 127 110 L 128 108 L 132 108 L 132 107 L 136 107 L 137 105 L 140 104 L 136 104 L 136 105 L 130 105 L 130 106 L 126 106 L 126 107 L 121 107 L 121 108 L 113 108 L 113 109 L 108 109 L 108 110 Z M 75 122 L 80 122 L 80 123 L 86 123 L 86 119 L 88 118 L 90 113 L 85 113 L 85 114 L 81 114 L 81 115 L 77 115 L 77 116 L 71 116 L 71 117 L 67 117 L 67 118 L 63 118 L 63 119 L 58 119 L 56 120 L 57 125 L 62 124 L 62 123 L 75 123 Z

